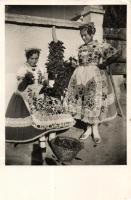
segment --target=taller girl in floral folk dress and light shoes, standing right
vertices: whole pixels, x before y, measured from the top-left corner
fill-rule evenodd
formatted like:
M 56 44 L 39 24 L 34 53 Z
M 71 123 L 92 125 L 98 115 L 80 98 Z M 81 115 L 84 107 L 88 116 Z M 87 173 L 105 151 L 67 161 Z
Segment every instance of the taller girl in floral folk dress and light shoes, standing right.
M 95 31 L 92 22 L 80 27 L 84 44 L 79 47 L 79 66 L 69 82 L 66 108 L 75 119 L 87 123 L 80 139 L 93 134 L 94 141 L 100 143 L 98 124 L 117 115 L 113 87 L 104 66 L 116 59 L 118 51 L 106 42 L 93 40 Z

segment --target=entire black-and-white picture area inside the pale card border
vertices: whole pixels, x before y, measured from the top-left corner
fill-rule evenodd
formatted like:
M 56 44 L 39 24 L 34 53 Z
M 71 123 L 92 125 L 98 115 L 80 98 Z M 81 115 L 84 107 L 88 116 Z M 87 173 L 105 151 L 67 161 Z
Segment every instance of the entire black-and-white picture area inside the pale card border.
M 5 165 L 127 165 L 127 5 L 5 5 Z

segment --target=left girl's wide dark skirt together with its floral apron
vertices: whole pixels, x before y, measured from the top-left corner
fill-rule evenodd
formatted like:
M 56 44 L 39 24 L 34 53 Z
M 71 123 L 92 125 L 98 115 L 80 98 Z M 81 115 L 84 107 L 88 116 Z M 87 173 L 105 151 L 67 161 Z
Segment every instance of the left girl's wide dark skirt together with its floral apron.
M 65 112 L 58 99 L 44 95 L 32 96 L 29 91 L 31 87 L 23 95 L 14 93 L 9 102 L 6 112 L 7 142 L 29 142 L 48 132 L 74 125 L 74 119 Z

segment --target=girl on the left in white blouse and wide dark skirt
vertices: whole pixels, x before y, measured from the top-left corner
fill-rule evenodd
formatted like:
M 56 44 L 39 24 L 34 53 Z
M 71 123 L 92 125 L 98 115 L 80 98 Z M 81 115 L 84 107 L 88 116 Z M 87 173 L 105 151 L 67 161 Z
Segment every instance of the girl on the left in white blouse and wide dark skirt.
M 6 112 L 6 141 L 28 142 L 45 133 L 67 129 L 74 125 L 61 102 L 47 94 L 48 81 L 37 66 L 40 49 L 25 50 L 26 63 L 17 73 L 17 91 Z

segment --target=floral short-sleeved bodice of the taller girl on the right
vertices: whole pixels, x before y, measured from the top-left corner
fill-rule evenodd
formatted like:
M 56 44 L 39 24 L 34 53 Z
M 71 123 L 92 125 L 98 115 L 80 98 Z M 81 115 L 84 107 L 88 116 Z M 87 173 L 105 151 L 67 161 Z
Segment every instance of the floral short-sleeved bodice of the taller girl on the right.
M 78 60 L 79 65 L 100 64 L 105 62 L 107 58 L 112 57 L 117 50 L 110 44 L 103 42 L 98 43 L 97 40 L 84 44 L 79 47 Z

